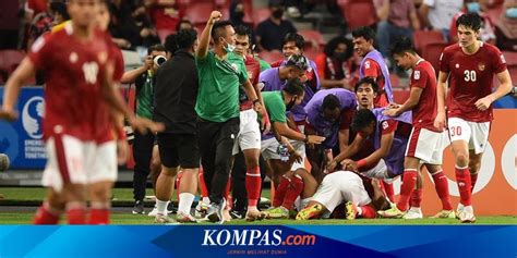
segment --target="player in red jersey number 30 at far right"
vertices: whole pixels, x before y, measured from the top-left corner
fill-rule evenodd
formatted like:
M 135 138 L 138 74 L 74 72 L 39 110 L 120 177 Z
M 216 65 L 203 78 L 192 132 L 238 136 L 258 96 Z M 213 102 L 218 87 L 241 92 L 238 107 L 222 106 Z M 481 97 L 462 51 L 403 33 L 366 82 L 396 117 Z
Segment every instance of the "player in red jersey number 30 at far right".
M 464 223 L 473 223 L 471 192 L 489 140 L 491 105 L 512 90 L 512 79 L 501 51 L 478 40 L 481 28 L 478 14 L 461 15 L 456 27 L 459 42 L 446 47 L 440 58 L 434 126 L 442 131 L 448 125 L 460 195 L 457 217 Z M 492 91 L 494 74 L 500 86 Z M 450 93 L 445 100 L 447 81 Z

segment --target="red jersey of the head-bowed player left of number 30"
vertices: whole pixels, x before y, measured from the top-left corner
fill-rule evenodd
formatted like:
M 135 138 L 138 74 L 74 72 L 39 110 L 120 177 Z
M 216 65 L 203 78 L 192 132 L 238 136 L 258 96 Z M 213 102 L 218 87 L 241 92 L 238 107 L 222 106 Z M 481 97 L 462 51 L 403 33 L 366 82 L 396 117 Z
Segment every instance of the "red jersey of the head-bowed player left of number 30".
M 412 109 L 413 126 L 438 132 L 433 125 L 437 110 L 435 74 L 433 65 L 430 62 L 420 59 L 411 74 L 410 87 L 422 89 L 420 100 Z

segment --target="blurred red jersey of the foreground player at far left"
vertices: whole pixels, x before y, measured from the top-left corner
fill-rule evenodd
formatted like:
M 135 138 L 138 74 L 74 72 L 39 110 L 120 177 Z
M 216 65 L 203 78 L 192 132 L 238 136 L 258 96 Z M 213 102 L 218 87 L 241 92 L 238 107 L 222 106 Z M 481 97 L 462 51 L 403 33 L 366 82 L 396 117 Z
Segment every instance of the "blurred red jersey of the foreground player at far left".
M 88 41 L 77 40 L 71 23 L 34 42 L 28 58 L 46 78 L 45 138 L 63 133 L 81 140 L 112 139 L 101 94 L 110 44 L 100 30 Z

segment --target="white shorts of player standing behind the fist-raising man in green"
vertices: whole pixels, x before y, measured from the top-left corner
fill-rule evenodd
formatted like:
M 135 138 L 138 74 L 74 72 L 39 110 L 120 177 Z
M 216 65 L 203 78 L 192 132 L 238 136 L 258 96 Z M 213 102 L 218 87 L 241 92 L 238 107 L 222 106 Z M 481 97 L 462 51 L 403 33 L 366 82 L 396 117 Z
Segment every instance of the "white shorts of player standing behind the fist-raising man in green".
M 253 109 L 241 111 L 240 128 L 237 139 L 233 144 L 232 155 L 239 153 L 239 150 L 260 149 L 261 148 L 261 130 L 256 121 L 256 112 Z

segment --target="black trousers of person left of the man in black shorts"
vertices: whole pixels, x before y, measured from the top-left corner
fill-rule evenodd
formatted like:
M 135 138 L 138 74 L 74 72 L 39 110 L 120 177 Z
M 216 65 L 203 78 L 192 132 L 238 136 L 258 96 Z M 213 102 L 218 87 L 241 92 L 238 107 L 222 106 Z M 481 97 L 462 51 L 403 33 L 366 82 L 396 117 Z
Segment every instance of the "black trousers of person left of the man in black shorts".
M 134 200 L 143 200 L 145 197 L 145 188 L 147 185 L 147 176 L 151 172 L 151 158 L 153 157 L 153 147 L 155 145 L 155 135 L 142 135 L 137 131 L 134 132 L 133 142 L 133 198 Z

